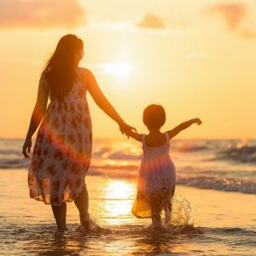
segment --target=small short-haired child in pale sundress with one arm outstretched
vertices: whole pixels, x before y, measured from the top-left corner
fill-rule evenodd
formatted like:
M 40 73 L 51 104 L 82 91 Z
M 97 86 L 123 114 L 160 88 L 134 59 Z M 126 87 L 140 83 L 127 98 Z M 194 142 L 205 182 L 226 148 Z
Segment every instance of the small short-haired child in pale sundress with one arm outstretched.
M 150 218 L 154 227 L 161 224 L 160 212 L 165 210 L 166 224 L 170 222 L 172 196 L 175 191 L 175 166 L 169 155 L 170 139 L 192 124 L 201 125 L 201 119 L 190 119 L 174 129 L 162 133 L 166 122 L 165 109 L 149 105 L 143 112 L 143 123 L 148 135 L 129 131 L 126 134 L 143 143 L 143 160 L 137 175 L 137 199 L 131 212 L 137 218 Z

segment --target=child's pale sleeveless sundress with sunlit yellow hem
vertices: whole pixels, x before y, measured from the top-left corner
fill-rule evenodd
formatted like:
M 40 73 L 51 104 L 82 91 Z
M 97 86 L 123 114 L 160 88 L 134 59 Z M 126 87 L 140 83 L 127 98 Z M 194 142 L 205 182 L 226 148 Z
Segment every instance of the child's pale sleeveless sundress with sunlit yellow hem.
M 150 205 L 162 210 L 174 195 L 175 166 L 169 154 L 169 136 L 165 134 L 166 143 L 154 148 L 147 147 L 145 135 L 142 136 L 143 160 L 137 175 L 137 198 L 131 210 L 137 218 L 150 218 Z

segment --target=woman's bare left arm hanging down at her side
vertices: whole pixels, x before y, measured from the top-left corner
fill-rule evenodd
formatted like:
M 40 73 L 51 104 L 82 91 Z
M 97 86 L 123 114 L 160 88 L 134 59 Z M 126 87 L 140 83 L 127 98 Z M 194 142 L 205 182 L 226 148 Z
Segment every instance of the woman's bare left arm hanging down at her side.
M 28 157 L 28 154 L 26 153 L 26 149 L 28 149 L 28 153 L 29 153 L 32 147 L 32 135 L 38 129 L 38 125 L 41 123 L 41 120 L 44 117 L 44 113 L 47 108 L 48 97 L 49 97 L 49 84 L 47 83 L 47 80 L 44 79 L 44 76 L 41 76 L 38 84 L 37 102 L 32 112 L 30 125 L 26 134 L 26 140 L 23 145 L 23 154 L 26 158 Z

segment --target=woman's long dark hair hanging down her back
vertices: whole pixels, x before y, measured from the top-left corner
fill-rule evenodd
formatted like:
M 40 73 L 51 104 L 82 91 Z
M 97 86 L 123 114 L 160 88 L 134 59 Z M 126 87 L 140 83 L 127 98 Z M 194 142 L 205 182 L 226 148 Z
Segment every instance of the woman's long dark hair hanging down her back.
M 77 74 L 74 70 L 75 54 L 84 47 L 84 42 L 73 34 L 63 36 L 58 42 L 55 52 L 44 65 L 41 76 L 49 82 L 52 96 L 62 101 L 72 89 Z

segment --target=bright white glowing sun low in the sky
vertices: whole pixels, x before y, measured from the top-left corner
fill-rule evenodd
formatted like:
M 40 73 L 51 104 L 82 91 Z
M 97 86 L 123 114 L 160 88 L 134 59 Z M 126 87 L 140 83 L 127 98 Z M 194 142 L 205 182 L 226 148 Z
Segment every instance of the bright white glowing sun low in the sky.
M 104 73 L 111 74 L 119 79 L 124 79 L 128 77 L 134 69 L 134 66 L 125 61 L 108 63 L 103 67 Z

